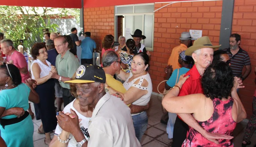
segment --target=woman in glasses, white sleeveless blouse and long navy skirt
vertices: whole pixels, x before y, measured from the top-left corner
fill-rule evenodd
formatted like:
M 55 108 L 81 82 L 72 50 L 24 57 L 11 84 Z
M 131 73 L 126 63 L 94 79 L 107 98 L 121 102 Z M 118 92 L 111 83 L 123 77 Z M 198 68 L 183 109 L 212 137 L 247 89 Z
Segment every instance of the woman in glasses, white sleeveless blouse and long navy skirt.
M 51 142 L 50 132 L 55 130 L 57 125 L 55 111 L 55 81 L 52 78 L 51 63 L 48 58 L 46 46 L 43 43 L 35 43 L 31 49 L 31 55 L 34 58 L 31 64 L 31 76 L 36 80 L 36 92 L 39 95 L 40 103 L 35 104 L 36 120 L 41 119 L 41 126 L 38 128 L 38 133 L 45 133 L 45 144 Z

